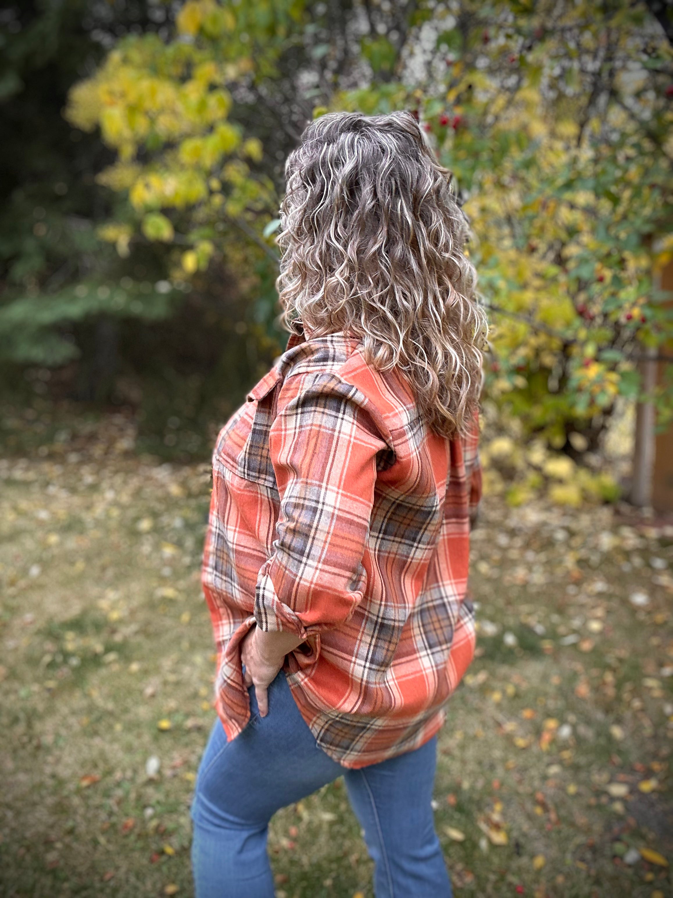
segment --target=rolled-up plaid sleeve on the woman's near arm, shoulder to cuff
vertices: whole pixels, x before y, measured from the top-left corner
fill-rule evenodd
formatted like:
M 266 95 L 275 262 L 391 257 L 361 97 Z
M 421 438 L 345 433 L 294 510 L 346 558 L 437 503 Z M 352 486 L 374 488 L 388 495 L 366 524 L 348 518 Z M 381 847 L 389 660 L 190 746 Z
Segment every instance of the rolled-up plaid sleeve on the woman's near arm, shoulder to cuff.
M 269 434 L 280 496 L 255 619 L 301 638 L 347 621 L 362 600 L 377 477 L 389 448 L 367 398 L 334 374 L 285 383 Z

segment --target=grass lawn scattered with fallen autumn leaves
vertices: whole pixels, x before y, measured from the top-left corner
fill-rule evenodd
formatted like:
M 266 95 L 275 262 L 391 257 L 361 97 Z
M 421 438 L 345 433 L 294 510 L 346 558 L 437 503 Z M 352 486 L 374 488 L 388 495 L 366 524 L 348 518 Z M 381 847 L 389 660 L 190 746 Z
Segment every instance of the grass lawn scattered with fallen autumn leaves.
M 192 894 L 214 656 L 206 465 L 97 434 L 0 460 L 0 894 Z M 441 733 L 458 895 L 673 894 L 673 530 L 486 498 Z M 277 814 L 278 898 L 371 896 L 341 782 Z M 403 896 L 410 898 L 410 896 Z

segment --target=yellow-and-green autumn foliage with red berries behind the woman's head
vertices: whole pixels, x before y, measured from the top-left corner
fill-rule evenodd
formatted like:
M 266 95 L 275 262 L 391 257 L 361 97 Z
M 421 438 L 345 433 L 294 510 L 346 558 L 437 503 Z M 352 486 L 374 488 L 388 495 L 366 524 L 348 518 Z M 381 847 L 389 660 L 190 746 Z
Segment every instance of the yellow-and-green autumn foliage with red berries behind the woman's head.
M 254 339 L 278 346 L 285 155 L 324 110 L 415 110 L 475 233 L 487 392 L 585 456 L 671 328 L 651 283 L 673 246 L 656 2 L 188 0 L 174 31 L 118 40 L 70 93 L 67 119 L 113 154 L 98 233 L 121 261 L 155 248 L 173 287 L 235 271 Z

